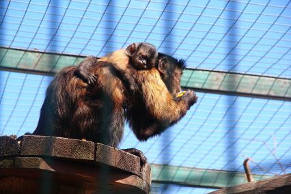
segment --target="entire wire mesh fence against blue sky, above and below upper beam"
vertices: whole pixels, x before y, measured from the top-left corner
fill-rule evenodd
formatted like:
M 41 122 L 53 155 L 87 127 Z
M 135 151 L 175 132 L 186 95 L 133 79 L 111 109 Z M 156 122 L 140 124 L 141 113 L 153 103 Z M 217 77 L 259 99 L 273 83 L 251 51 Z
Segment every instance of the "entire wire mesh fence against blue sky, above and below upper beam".
M 189 68 L 290 80 L 290 18 L 290 1 L 1 1 L 0 46 L 102 56 L 146 41 L 186 59 Z M 10 50 L 0 51 L 0 64 L 9 63 Z M 21 68 L 25 57 L 20 55 L 15 68 Z M 47 69 L 55 70 L 59 60 L 51 57 Z M 52 79 L 0 71 L 0 135 L 34 130 Z M 139 142 L 126 126 L 121 148 L 138 148 L 152 165 L 174 167 L 174 174 L 163 174 L 167 180 L 175 180 L 183 167 L 189 168 L 184 176 L 189 180 L 196 168 L 243 172 L 245 158 L 251 158 L 253 174 L 291 172 L 291 102 L 205 92 L 198 96 L 197 105 L 159 137 Z M 158 182 L 152 191 L 210 192 Z

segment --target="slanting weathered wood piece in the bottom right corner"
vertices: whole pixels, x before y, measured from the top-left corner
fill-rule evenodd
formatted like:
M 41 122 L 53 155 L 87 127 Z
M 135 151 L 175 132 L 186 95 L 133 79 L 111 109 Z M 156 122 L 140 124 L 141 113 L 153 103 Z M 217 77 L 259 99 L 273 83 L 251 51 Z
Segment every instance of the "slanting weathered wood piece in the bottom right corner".
M 240 184 L 238 186 L 230 186 L 212 192 L 212 194 L 222 193 L 291 193 L 291 174 L 283 174 L 274 176 L 273 178 Z

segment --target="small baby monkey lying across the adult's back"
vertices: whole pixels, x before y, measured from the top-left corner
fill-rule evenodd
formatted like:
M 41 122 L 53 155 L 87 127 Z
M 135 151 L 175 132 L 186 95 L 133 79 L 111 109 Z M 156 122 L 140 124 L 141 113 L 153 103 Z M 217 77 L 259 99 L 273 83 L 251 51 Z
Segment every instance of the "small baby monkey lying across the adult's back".
M 156 47 L 147 42 L 130 44 L 126 49 L 114 51 L 105 57 L 101 57 L 98 61 L 105 61 L 112 64 L 116 72 L 120 74 L 120 79 L 128 84 L 128 89 L 135 92 L 137 85 L 135 83 L 134 72 L 131 68 L 137 70 L 149 70 L 156 63 L 158 52 Z M 92 60 L 92 57 L 87 57 L 77 66 L 74 72 L 77 77 L 83 79 L 89 85 L 96 82 L 97 77 L 92 71 L 93 66 L 98 65 Z

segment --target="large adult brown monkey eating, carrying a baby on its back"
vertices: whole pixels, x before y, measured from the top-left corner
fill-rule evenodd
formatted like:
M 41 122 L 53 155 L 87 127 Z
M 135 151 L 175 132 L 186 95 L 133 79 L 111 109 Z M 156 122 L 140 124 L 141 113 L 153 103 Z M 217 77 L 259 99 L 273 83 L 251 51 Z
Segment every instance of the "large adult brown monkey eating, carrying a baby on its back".
M 169 55 L 159 54 L 155 68 L 130 70 L 138 86 L 135 94 L 124 85 L 114 62 L 96 57 L 89 60 L 96 83 L 87 87 L 75 76 L 76 66 L 63 68 L 46 90 L 33 135 L 87 139 L 117 147 L 127 119 L 137 139 L 146 141 L 178 122 L 197 100 L 191 90 L 176 97 L 185 65 Z M 139 150 L 126 151 L 146 163 Z

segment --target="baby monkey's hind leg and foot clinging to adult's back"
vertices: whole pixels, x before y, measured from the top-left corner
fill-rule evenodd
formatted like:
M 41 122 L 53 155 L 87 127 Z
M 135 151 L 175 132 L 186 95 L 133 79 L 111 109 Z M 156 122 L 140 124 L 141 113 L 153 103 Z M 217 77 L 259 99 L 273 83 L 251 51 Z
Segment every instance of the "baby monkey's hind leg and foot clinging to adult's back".
M 89 85 L 94 84 L 97 80 L 96 75 L 92 72 L 92 68 L 94 65 L 97 64 L 96 57 L 87 57 L 82 61 L 78 66 L 77 69 L 74 71 L 74 74 L 83 79 Z

